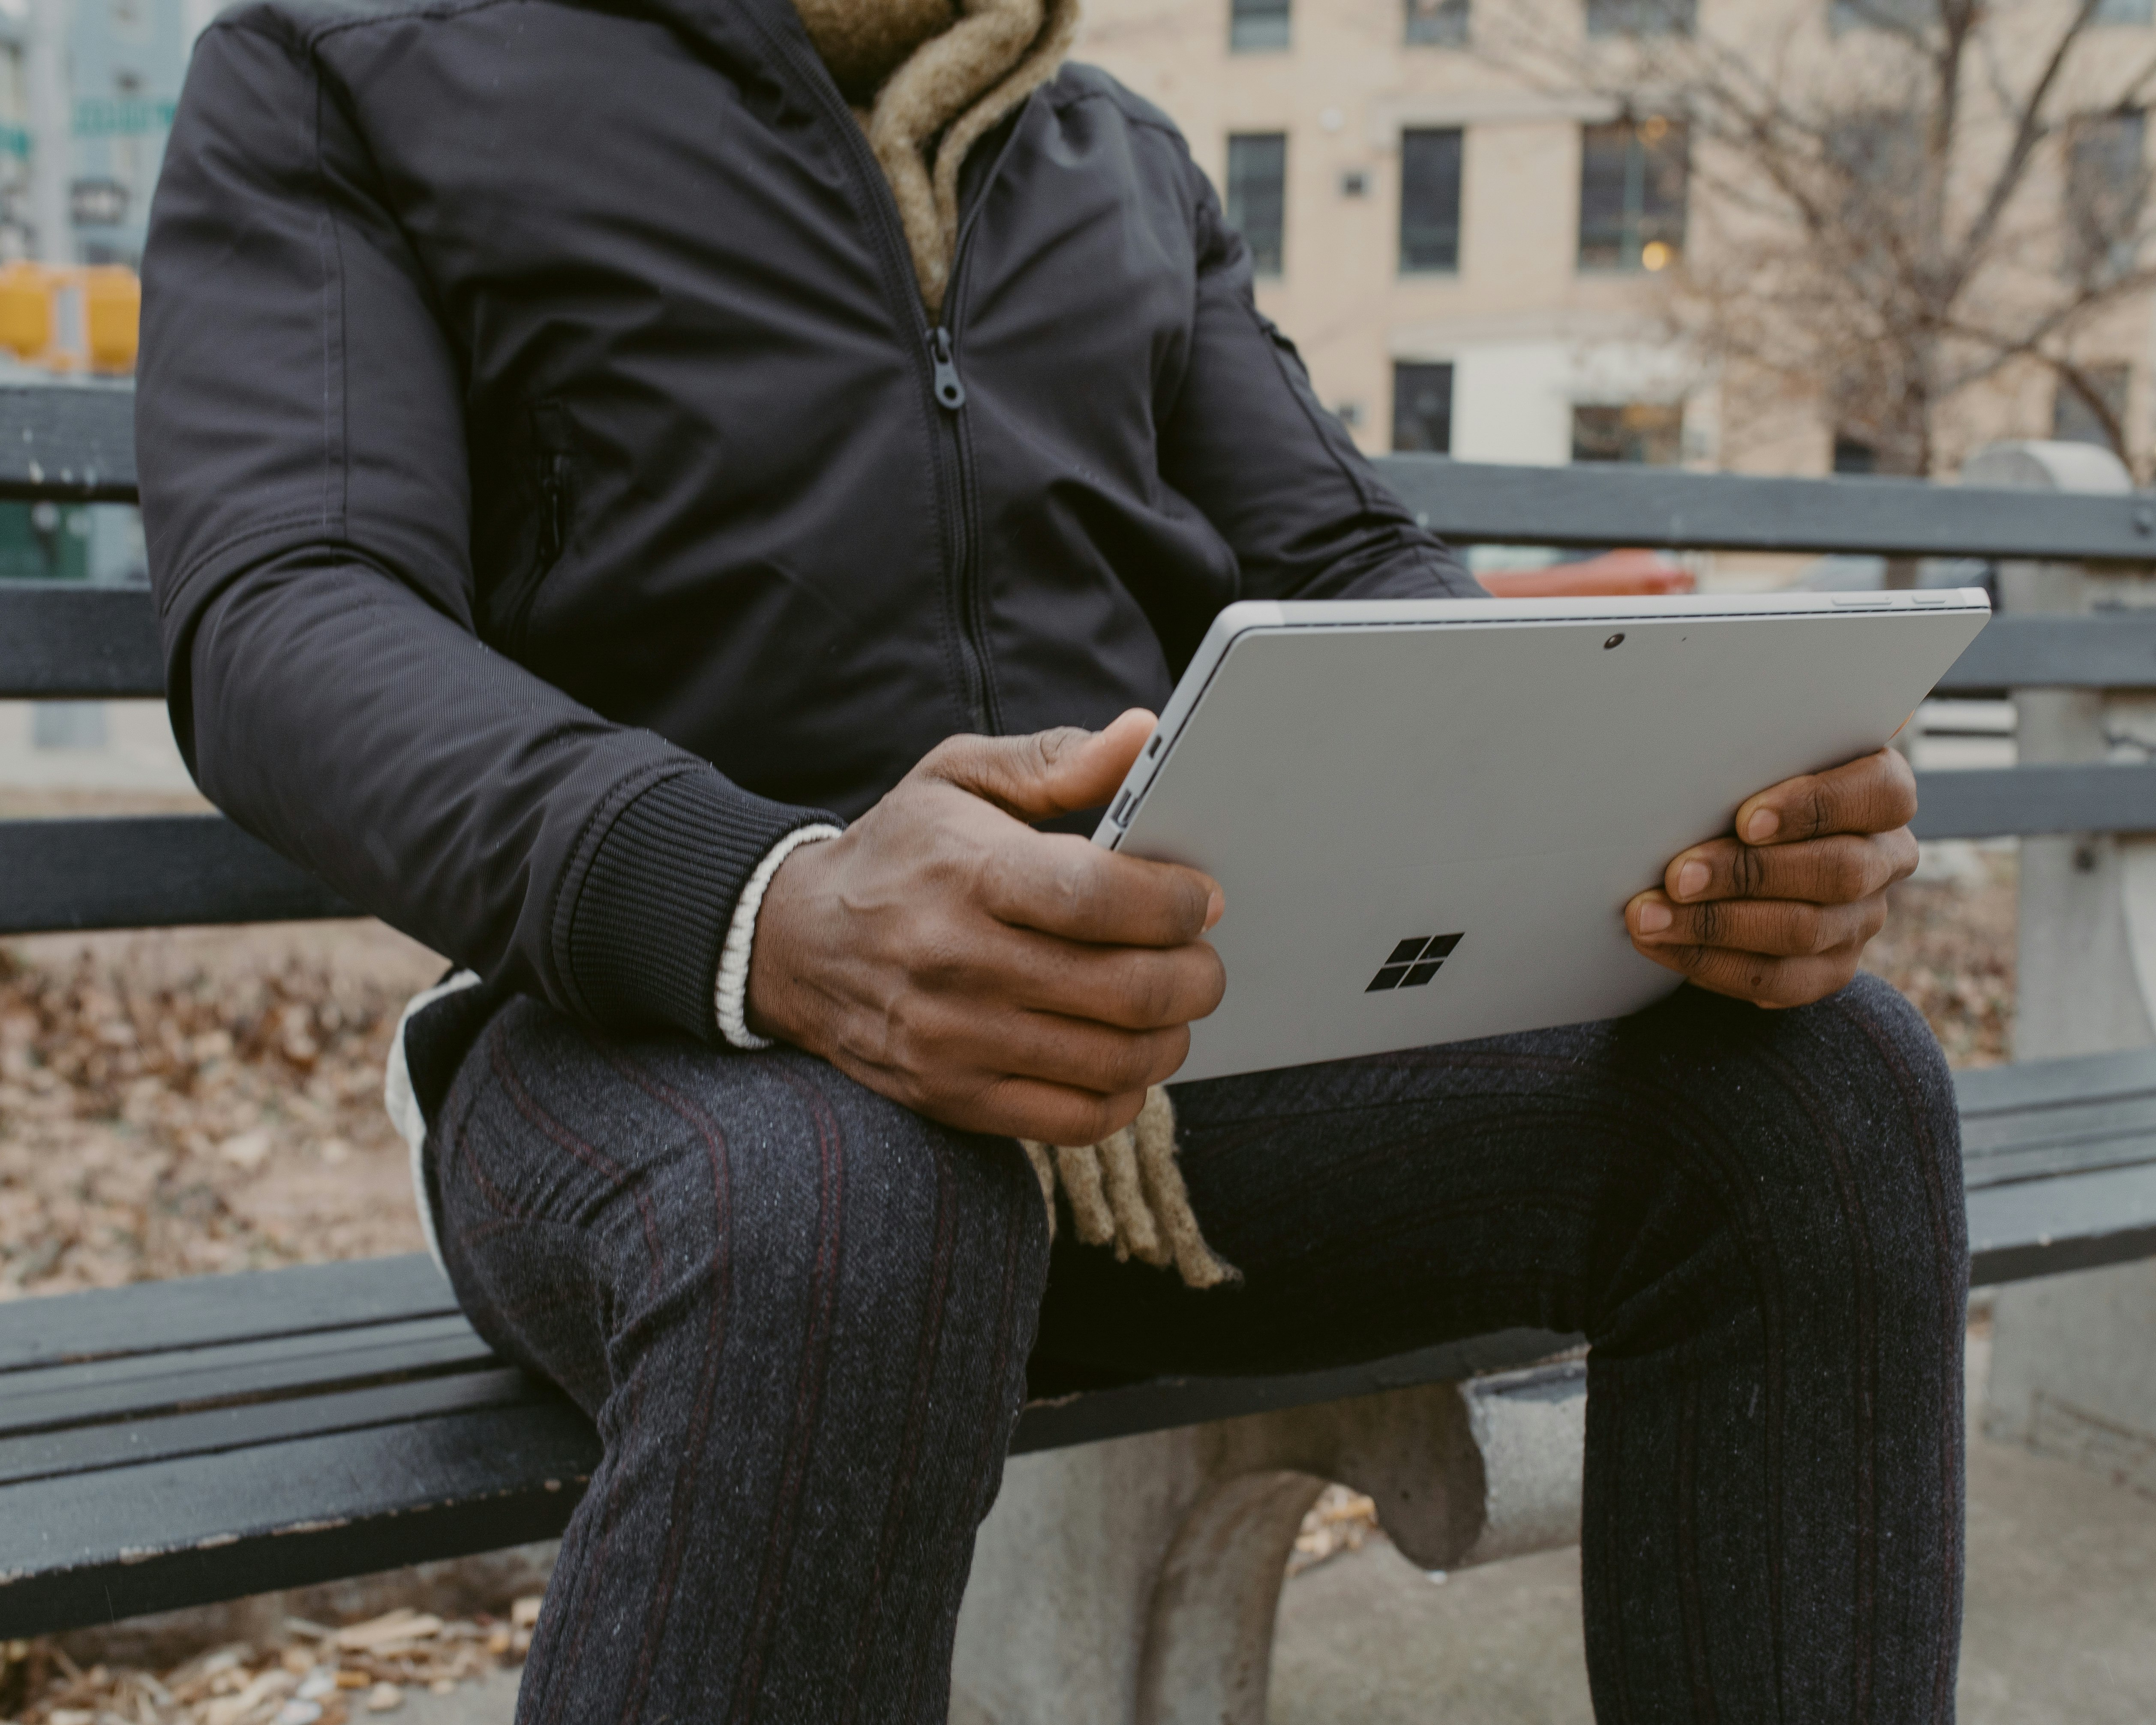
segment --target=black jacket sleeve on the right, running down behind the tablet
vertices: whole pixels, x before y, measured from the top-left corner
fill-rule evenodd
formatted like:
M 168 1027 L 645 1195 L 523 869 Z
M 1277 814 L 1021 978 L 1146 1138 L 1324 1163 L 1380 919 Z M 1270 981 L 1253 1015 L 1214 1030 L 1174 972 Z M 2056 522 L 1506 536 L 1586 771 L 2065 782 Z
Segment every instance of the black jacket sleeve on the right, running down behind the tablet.
M 1395 498 L 1257 310 L 1250 248 L 1175 140 L 1197 224 L 1197 313 L 1160 472 L 1229 541 L 1244 599 L 1488 597 Z

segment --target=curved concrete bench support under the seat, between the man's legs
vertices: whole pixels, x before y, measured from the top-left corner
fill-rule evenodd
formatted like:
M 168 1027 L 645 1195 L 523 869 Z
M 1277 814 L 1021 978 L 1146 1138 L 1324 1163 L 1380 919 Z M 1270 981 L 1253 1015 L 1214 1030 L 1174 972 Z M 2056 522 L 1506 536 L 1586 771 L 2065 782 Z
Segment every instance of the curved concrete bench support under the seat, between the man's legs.
M 1580 1535 L 1585 1365 L 1018 1455 L 975 1542 L 953 1725 L 1261 1725 L 1296 1529 L 1328 1479 L 1425 1570 Z

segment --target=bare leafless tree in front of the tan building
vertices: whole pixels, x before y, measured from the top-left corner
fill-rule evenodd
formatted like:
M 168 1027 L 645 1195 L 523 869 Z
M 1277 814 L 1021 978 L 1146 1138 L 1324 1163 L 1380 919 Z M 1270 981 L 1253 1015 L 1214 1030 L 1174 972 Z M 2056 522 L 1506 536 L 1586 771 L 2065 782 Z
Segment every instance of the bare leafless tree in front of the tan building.
M 1576 13 L 1548 0 L 1516 0 L 1479 43 L 1526 86 L 1688 125 L 1695 216 L 1664 278 L 1669 328 L 1725 377 L 1774 382 L 1899 472 L 1951 459 L 1949 408 L 2014 377 L 2057 380 L 2130 442 L 2091 399 L 2091 343 L 2156 293 L 2147 172 L 2115 134 L 2076 157 L 2072 198 L 2040 192 L 2074 108 L 2132 110 L 2156 60 L 2113 73 L 2078 52 L 2102 0 L 1841 4 L 1869 26 L 1863 43 L 1822 41 L 1824 6 L 1772 28 L 1746 13 L 1733 34 L 1583 43 Z

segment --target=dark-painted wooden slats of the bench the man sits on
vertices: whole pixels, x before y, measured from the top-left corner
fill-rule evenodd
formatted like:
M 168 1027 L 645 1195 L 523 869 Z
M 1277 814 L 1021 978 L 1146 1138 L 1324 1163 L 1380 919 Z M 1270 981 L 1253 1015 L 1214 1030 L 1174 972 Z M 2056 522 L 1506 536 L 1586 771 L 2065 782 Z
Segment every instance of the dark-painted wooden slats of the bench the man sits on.
M 123 390 L 0 388 L 0 498 L 132 500 L 129 408 Z M 2096 563 L 2156 554 L 2156 511 L 2141 498 L 1429 457 L 1386 468 L 1462 541 Z M 0 584 L 0 696 L 123 699 L 162 686 L 140 589 Z M 1940 690 L 2111 686 L 2156 688 L 2156 615 L 2003 617 Z M 1919 832 L 1930 839 L 2156 830 L 2156 765 L 1921 781 Z M 216 815 L 0 822 L 0 936 L 349 914 Z M 1971 1072 L 1960 1102 L 1979 1283 L 2156 1255 L 2156 1052 Z M 1082 1393 L 1044 1384 L 1018 1451 L 1354 1397 L 1376 1406 L 1526 1367 L 1574 1341 L 1518 1330 L 1300 1378 Z M 1539 1406 L 1576 1397 L 1578 1369 L 1490 1382 L 1524 1384 L 1520 1404 Z M 1485 1492 L 1490 1406 L 1455 1408 L 1462 1443 L 1483 1445 L 1468 1473 Z M 1315 1427 L 1302 1419 L 1296 1430 Z M 1317 1453 L 1309 1447 L 1281 1453 L 1322 1464 L 1294 1460 Z M 0 1637 L 548 1537 L 595 1458 L 584 1419 L 496 1358 L 423 1257 L 4 1305 Z M 1462 1527 L 1449 1537 L 1466 1552 L 1475 1527 Z M 1268 1585 L 1276 1574 L 1274 1561 Z

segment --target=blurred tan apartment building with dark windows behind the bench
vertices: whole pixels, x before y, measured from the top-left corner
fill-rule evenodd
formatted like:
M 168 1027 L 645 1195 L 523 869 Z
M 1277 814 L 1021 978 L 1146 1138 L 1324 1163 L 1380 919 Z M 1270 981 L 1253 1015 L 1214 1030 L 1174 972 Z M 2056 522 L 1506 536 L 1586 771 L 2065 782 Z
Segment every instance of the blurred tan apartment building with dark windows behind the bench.
M 2042 11 L 2053 0 L 2018 0 Z M 2063 0 L 2061 0 L 2063 2 Z M 1936 0 L 1861 0 L 1932 9 Z M 1738 425 L 1669 317 L 1699 244 L 1684 101 L 1563 91 L 1485 52 L 1522 0 L 1087 0 L 1080 56 L 1160 104 L 1220 188 L 1259 267 L 1259 304 L 1369 451 L 1479 461 L 1621 459 L 1774 472 L 1867 470 L 1830 412 Z M 2100 0 L 2096 54 L 2156 54 L 2152 0 Z M 1852 0 L 1563 0 L 1535 17 L 1598 39 L 1692 28 L 1768 41 L 1811 30 L 1863 52 Z M 1846 41 L 1846 45 L 1843 45 Z M 2083 134 L 2076 134 L 2083 136 Z M 2139 110 L 2102 114 L 2098 170 L 2145 177 Z M 2085 164 L 2076 157 L 2076 172 Z M 2156 418 L 2143 295 L 2091 341 L 2106 397 Z M 2033 369 L 1971 399 L 1960 446 L 1996 436 L 2102 442 Z

